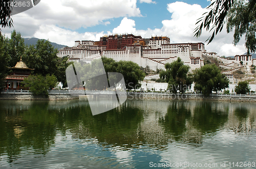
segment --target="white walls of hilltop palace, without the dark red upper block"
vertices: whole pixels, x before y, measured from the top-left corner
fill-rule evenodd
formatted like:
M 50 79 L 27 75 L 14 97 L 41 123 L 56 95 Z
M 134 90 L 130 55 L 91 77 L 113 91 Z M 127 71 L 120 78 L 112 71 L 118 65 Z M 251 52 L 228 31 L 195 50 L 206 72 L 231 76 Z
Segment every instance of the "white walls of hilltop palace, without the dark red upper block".
M 191 69 L 202 66 L 202 43 L 161 44 L 160 48 L 143 47 L 140 44 L 127 45 L 124 49 L 106 50 L 105 46 L 92 45 L 92 41 L 76 41 L 74 47 L 58 50 L 58 57 L 69 55 L 72 61 L 91 61 L 105 56 L 116 61 L 132 61 L 150 69 L 165 69 L 166 63 L 172 63 L 178 57 Z M 158 46 L 159 47 L 159 46 Z

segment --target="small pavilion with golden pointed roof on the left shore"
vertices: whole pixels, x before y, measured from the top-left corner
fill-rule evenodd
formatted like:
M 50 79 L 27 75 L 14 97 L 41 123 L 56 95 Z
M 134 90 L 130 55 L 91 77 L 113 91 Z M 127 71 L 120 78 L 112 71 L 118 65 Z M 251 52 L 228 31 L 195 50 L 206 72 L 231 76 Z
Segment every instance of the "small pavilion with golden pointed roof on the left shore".
M 7 75 L 4 79 L 4 87 L 5 89 L 10 90 L 27 90 L 28 88 L 24 87 L 21 83 L 25 77 L 28 77 L 31 74 L 31 70 L 27 67 L 27 65 L 22 61 L 22 57 L 20 57 L 19 62 L 15 65 L 15 67 L 10 68 L 12 70 L 10 75 Z

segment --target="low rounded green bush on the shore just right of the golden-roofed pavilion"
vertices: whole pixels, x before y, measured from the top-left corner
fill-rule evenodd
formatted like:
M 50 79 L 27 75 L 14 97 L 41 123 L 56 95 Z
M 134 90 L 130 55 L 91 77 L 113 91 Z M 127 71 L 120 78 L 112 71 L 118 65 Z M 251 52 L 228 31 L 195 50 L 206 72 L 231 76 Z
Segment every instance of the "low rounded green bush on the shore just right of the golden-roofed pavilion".
M 46 77 L 42 75 L 29 75 L 28 78 L 24 79 L 23 83 L 35 95 L 48 95 L 49 86 Z

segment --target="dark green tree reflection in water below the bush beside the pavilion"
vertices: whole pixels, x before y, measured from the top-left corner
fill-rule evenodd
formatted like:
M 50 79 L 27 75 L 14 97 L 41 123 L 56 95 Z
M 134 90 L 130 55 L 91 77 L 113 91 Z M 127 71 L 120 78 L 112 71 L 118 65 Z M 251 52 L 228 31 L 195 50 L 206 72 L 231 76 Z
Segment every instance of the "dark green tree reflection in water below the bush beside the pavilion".
M 27 122 L 21 139 L 27 140 L 26 147 L 32 146 L 34 150 L 46 154 L 54 144 L 56 135 L 57 114 L 48 109 L 49 101 L 33 102 L 28 111 L 22 114 L 22 119 Z

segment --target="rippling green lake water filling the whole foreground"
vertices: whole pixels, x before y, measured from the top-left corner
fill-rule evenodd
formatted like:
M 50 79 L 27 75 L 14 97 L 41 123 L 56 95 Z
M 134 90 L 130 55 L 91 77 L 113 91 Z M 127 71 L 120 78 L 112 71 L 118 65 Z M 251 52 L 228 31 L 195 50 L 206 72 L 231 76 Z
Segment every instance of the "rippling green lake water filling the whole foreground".
M 249 102 L 0 101 L 0 168 L 256 168 L 255 121 Z

